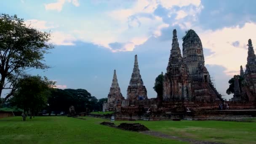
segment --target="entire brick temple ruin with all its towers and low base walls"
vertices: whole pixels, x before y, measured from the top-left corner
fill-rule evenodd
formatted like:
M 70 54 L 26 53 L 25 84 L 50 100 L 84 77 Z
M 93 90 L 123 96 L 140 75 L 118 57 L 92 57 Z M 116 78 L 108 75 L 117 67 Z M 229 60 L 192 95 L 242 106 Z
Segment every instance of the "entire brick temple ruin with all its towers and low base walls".
M 133 72 L 127 88 L 127 99 L 124 99 L 117 83 L 116 71 L 103 109 L 115 111 L 119 119 L 129 119 L 136 115 L 140 119 L 155 117 L 155 120 L 164 120 L 167 117 L 178 115 L 224 115 L 218 112 L 219 104 L 228 103 L 232 109 L 254 109 L 256 101 L 256 55 L 251 40 L 248 43 L 248 62 L 246 70 L 240 68 L 243 75 L 243 86 L 240 86 L 235 77 L 235 95 L 232 101 L 224 101 L 211 82 L 210 74 L 205 67 L 203 45 L 200 37 L 192 29 L 182 38 L 182 53 L 179 48 L 176 29 L 173 30 L 171 54 L 164 75 L 163 97 L 147 98 L 147 89 L 141 79 L 138 57 L 135 55 Z M 188 113 L 190 112 L 190 113 Z M 194 112 L 193 114 L 191 112 Z M 196 113 L 195 113 L 196 112 Z M 254 111 L 253 111 L 254 112 Z M 243 112 L 235 112 L 234 115 Z M 250 113 L 250 112 L 248 112 Z M 189 114 L 189 115 L 188 115 Z M 147 115 L 146 118 L 141 118 Z M 228 115 L 233 115 L 229 112 Z

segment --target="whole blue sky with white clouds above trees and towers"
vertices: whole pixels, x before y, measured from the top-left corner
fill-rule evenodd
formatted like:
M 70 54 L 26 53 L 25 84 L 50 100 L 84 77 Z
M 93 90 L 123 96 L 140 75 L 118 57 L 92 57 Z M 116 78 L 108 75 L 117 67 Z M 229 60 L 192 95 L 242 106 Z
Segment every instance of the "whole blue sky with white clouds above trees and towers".
M 255 0 L 5 0 L 0 13 L 18 15 L 27 25 L 50 32 L 55 46 L 45 55 L 51 68 L 33 70 L 57 88 L 83 88 L 106 98 L 114 69 L 126 98 L 134 55 L 148 98 L 156 97 L 155 77 L 166 72 L 172 31 L 179 46 L 188 29 L 199 35 L 205 66 L 217 91 L 240 74 L 248 39 L 256 42 Z

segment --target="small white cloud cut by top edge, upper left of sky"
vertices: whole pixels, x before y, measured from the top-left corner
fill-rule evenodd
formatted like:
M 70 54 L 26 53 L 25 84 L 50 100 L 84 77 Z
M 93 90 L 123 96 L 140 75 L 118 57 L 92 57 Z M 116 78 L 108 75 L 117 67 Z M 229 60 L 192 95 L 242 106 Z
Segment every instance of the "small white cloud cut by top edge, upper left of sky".
M 56 3 L 48 3 L 45 4 L 45 10 L 56 10 L 56 11 L 61 11 L 63 5 L 68 2 L 68 3 L 72 3 L 73 5 L 75 5 L 76 7 L 78 7 L 80 4 L 78 2 L 78 0 L 57 0 Z

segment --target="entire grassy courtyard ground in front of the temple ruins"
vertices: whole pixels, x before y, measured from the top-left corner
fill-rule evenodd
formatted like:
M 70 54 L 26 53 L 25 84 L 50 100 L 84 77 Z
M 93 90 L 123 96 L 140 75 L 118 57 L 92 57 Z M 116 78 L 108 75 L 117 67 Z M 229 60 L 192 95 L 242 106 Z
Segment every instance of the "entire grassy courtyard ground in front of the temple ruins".
M 141 143 L 141 144 L 186 144 L 224 143 L 256 144 L 256 118 L 250 122 L 231 121 L 115 121 L 120 123 L 141 123 L 150 131 L 124 131 L 100 125 L 107 119 L 83 117 L 35 117 L 21 121 L 21 117 L 0 119 L 0 143 L 42 144 L 42 143 Z

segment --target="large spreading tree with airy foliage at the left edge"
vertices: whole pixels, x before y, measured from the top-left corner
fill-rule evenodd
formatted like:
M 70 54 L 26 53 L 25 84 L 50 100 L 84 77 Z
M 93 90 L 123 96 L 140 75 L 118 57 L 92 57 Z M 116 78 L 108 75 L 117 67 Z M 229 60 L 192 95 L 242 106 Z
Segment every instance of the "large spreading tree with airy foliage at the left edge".
M 2 104 L 14 94 L 27 70 L 48 68 L 43 55 L 53 48 L 50 37 L 26 26 L 16 15 L 0 14 L 0 96 L 3 89 L 10 90 Z

